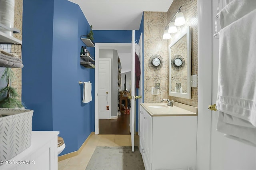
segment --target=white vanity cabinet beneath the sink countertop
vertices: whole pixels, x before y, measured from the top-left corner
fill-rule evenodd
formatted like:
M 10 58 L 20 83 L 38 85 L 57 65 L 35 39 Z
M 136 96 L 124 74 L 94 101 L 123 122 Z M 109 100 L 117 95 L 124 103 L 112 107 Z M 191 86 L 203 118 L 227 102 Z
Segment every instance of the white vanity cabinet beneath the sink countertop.
M 152 115 L 140 105 L 140 152 L 146 170 L 196 170 L 195 115 Z

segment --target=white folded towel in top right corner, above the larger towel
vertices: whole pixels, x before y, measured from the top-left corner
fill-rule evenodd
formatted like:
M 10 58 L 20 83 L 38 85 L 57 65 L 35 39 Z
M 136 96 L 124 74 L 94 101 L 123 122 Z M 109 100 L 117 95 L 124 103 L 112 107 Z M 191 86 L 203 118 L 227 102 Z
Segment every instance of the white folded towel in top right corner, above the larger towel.
M 224 28 L 256 8 L 256 0 L 232 0 L 220 10 L 220 27 Z

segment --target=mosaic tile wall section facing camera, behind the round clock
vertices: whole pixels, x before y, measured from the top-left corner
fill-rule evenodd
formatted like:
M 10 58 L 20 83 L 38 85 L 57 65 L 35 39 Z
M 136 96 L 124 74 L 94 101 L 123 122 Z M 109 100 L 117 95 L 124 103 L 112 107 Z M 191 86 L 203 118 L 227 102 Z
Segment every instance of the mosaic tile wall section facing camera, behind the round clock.
M 163 32 L 167 24 L 167 12 L 144 12 L 144 102 L 160 103 L 168 98 L 168 44 Z M 150 67 L 148 62 L 154 54 L 164 63 L 160 69 Z M 151 87 L 160 83 L 159 95 L 151 95 Z

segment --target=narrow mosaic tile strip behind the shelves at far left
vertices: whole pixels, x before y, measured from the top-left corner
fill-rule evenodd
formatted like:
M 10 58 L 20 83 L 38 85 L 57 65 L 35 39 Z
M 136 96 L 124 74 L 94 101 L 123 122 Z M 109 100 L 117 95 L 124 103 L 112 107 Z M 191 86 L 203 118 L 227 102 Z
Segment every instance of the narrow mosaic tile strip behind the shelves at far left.
M 15 0 L 14 6 L 14 28 L 20 30 L 20 34 L 14 34 L 14 38 L 22 40 L 22 12 L 23 12 L 23 0 Z M 21 45 L 12 45 L 15 52 L 21 58 Z M 14 87 L 21 100 L 21 68 L 12 68 L 16 79 L 12 82 L 12 87 Z

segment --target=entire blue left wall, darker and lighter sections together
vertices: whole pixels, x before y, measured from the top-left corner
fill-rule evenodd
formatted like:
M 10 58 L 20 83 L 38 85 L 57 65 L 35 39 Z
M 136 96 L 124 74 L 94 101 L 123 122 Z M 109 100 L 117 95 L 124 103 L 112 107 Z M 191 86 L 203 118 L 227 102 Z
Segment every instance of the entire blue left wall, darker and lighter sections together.
M 67 0 L 24 0 L 23 5 L 22 101 L 34 110 L 32 130 L 60 131 L 66 144 L 61 155 L 74 152 L 94 131 L 94 69 L 81 66 L 79 57 L 80 36 L 88 34 L 90 25 L 80 7 Z M 48 39 L 38 42 L 38 35 Z M 94 55 L 94 48 L 88 50 Z M 38 82 L 30 84 L 34 79 Z M 78 81 L 92 83 L 90 103 L 82 103 Z

